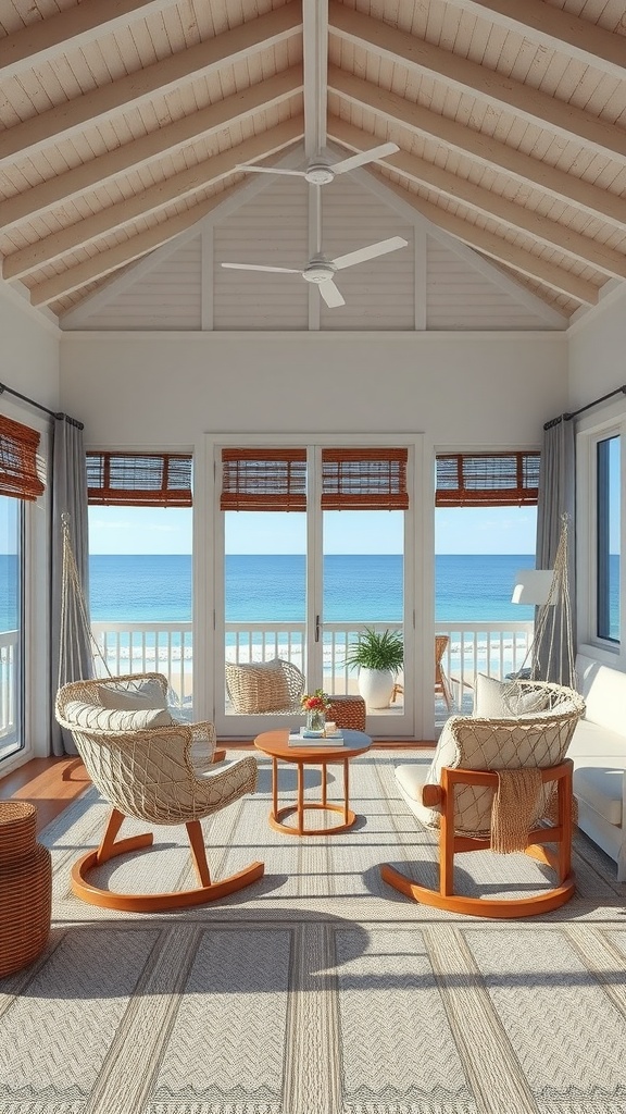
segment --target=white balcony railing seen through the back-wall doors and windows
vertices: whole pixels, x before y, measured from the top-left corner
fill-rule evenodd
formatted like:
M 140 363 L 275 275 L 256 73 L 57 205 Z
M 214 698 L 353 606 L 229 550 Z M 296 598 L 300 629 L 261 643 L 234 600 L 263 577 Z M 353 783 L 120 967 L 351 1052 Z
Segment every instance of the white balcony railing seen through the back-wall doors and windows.
M 365 626 L 402 629 L 400 623 L 324 623 L 324 687 L 336 695 L 355 690 L 355 674 L 345 664 L 349 648 Z M 94 623 L 102 661 L 98 673 L 165 673 L 180 695 L 192 694 L 193 626 L 190 623 Z M 503 678 L 527 664 L 532 623 L 437 623 L 447 634 L 443 668 L 459 704 L 471 692 L 476 673 Z M 232 662 L 283 657 L 306 671 L 304 623 L 227 623 L 225 657 Z M 106 662 L 106 666 L 105 663 Z

